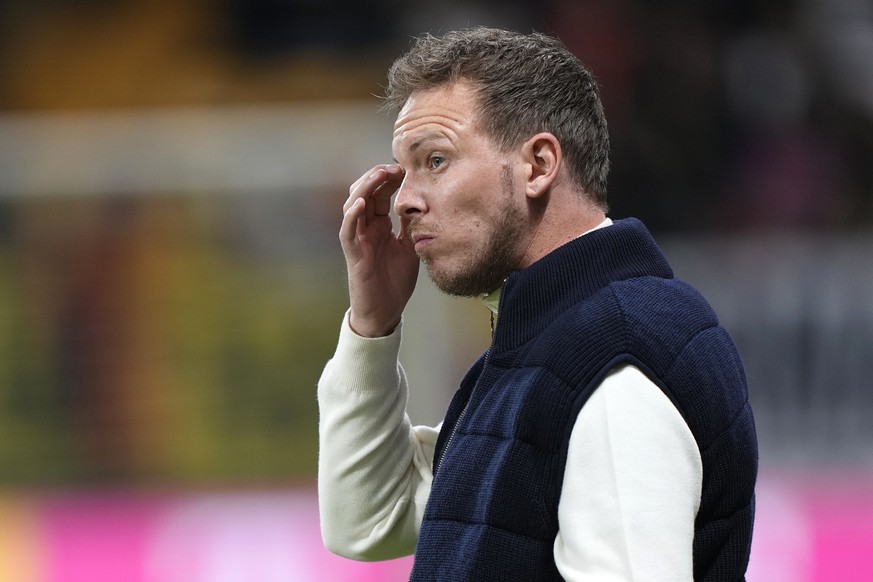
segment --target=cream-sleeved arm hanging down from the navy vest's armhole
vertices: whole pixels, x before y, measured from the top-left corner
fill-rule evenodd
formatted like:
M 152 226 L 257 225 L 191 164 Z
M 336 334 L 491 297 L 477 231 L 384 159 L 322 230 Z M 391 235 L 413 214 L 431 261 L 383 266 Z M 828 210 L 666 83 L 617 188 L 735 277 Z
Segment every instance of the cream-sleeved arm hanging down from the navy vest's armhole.
M 555 540 L 564 578 L 691 581 L 703 466 L 660 388 L 633 366 L 614 370 L 569 446 Z

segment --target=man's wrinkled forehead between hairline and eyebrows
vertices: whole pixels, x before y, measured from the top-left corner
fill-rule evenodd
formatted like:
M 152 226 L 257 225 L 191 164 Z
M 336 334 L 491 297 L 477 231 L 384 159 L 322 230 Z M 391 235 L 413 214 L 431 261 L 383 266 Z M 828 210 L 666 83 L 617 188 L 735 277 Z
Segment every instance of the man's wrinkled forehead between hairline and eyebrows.
M 392 147 L 410 150 L 422 140 L 459 139 L 475 130 L 476 107 L 475 91 L 469 83 L 416 91 L 397 115 Z

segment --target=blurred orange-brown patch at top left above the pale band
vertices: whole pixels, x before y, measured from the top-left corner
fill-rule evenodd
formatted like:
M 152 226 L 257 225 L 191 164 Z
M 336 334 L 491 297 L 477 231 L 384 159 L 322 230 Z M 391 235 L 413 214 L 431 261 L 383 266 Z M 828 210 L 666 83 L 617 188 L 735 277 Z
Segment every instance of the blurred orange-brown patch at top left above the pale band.
M 384 76 L 385 57 L 367 51 L 246 59 L 207 0 L 38 6 L 21 11 L 2 43 L 3 109 L 366 99 Z

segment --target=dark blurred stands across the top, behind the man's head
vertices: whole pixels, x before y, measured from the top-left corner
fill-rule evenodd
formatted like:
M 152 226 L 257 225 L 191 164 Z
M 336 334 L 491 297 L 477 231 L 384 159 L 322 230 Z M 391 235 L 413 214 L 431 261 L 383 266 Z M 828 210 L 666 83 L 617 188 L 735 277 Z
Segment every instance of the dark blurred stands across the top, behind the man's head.
M 873 219 L 864 0 L 0 2 L 0 107 L 366 99 L 410 35 L 559 35 L 599 78 L 612 206 L 656 230 Z

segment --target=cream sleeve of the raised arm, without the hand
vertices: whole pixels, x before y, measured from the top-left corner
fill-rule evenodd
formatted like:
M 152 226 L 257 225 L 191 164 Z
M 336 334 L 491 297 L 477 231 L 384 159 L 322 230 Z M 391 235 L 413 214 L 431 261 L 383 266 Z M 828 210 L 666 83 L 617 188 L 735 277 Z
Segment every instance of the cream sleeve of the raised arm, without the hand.
M 402 325 L 402 324 L 401 324 Z M 401 326 L 363 338 L 343 320 L 318 382 L 321 533 L 356 560 L 412 554 L 430 494 L 438 427 L 413 427 L 398 362 Z

